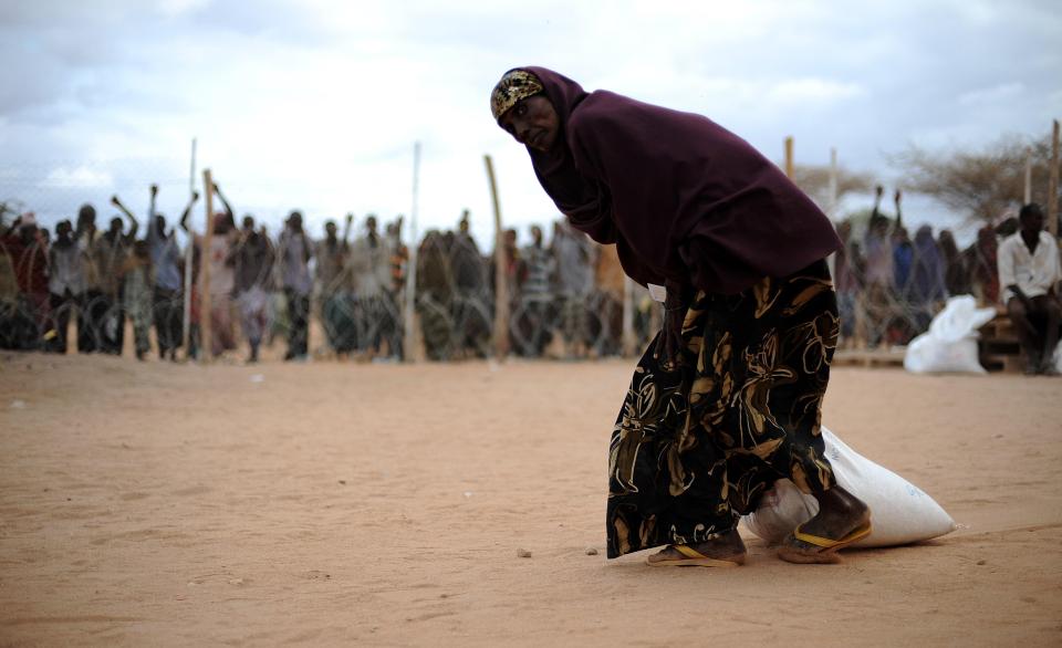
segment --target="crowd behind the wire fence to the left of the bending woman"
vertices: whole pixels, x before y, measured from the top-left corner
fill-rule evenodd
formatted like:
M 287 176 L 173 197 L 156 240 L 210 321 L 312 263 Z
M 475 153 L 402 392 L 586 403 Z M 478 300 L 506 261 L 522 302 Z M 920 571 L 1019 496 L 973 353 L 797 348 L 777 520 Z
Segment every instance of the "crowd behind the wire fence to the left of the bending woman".
M 146 227 L 117 197 L 112 205 L 121 216 L 102 233 L 92 205 L 82 206 L 75 222 L 58 222 L 54 236 L 32 212 L 3 223 L 0 348 L 121 355 L 128 322 L 137 358 L 146 359 L 153 348 L 160 359 L 198 357 L 200 293 L 208 286 L 206 353 L 215 357 L 257 362 L 263 344 L 287 338 L 284 358 L 305 359 L 312 321 L 320 331 L 314 355 L 404 357 L 410 255 L 400 216 L 381 228 L 368 215 L 355 236 L 353 215 L 342 231 L 327 220 L 317 239 L 305 231 L 302 213 L 292 211 L 279 236 L 271 237 L 251 215 L 237 226 L 228 198 L 217 185 L 212 190 L 221 207 L 214 236 L 189 229 L 199 199 L 194 195 L 177 222 L 190 243 L 185 249 L 156 209 L 156 186 Z M 561 353 L 569 357 L 620 353 L 624 280 L 615 254 L 563 222 L 555 224 L 549 247 L 538 227 L 523 248 L 517 237 L 516 230 L 504 237 L 513 353 L 541 356 L 554 338 L 563 338 Z M 492 353 L 496 264 L 472 238 L 468 211 L 456 230 L 426 232 L 418 251 L 416 309 L 425 355 L 454 359 Z M 204 252 L 208 281 L 200 278 Z M 647 299 L 642 304 L 643 336 L 649 334 L 648 304 Z M 71 330 L 73 341 L 67 339 Z M 179 354 L 185 344 L 187 353 Z

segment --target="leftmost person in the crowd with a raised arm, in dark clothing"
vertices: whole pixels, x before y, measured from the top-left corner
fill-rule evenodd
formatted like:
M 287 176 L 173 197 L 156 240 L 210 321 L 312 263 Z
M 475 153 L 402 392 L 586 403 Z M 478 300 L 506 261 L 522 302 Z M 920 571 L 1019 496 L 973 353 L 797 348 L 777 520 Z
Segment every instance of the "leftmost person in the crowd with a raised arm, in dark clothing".
M 129 221 L 129 232 L 122 232 L 122 219 L 112 218 L 111 228 L 97 237 L 91 248 L 92 265 L 96 272 L 100 296 L 96 297 L 103 310 L 102 326 L 96 339 L 100 351 L 112 355 L 122 355 L 125 342 L 125 312 L 122 307 L 123 270 L 136 241 L 138 224 L 133 213 L 122 205 L 117 196 L 111 197 L 111 203 L 117 207 Z M 93 307 L 93 306 L 90 306 Z

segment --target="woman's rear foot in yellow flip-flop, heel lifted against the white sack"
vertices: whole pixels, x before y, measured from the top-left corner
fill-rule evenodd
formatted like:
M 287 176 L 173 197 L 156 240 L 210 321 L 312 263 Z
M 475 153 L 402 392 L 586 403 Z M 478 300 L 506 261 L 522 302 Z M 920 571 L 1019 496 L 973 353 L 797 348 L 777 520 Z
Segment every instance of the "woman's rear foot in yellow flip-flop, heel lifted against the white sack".
M 862 500 L 835 485 L 815 495 L 819 514 L 785 539 L 778 557 L 790 563 L 836 563 L 837 551 L 870 533 L 871 510 Z

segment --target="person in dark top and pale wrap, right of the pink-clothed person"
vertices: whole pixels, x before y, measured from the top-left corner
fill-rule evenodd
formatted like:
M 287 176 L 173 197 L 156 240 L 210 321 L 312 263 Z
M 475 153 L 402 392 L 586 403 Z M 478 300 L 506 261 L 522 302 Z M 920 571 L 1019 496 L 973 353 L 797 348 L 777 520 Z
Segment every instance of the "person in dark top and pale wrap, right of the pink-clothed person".
M 258 362 L 262 336 L 269 328 L 269 291 L 272 289 L 273 247 L 269 238 L 254 230 L 254 217 L 243 217 L 236 242 L 236 304 L 240 311 L 243 336 L 250 346 L 248 363 Z

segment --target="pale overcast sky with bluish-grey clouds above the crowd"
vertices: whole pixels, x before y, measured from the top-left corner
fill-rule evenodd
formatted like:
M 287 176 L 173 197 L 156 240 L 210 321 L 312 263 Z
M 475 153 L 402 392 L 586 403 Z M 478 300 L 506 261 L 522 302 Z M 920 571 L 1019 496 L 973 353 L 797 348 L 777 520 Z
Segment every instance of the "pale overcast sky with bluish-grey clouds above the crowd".
M 511 6 L 512 8 L 508 8 Z M 190 147 L 239 215 L 275 227 L 301 209 L 319 231 L 353 211 L 412 209 L 419 230 L 502 215 L 521 228 L 556 211 L 523 149 L 497 128 L 489 92 L 538 64 L 705 114 L 772 159 L 902 182 L 886 154 L 907 143 L 977 147 L 1044 134 L 1062 116 L 1058 0 L 884 2 L 342 2 L 272 0 L 0 3 L 0 200 L 45 223 L 147 185 L 176 216 Z M 914 222 L 945 218 L 915 203 Z M 201 209 L 197 211 L 201 220 Z M 201 227 L 201 226 L 199 226 Z

